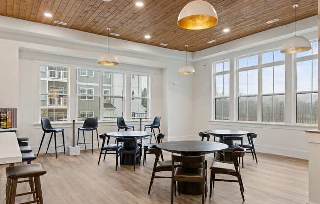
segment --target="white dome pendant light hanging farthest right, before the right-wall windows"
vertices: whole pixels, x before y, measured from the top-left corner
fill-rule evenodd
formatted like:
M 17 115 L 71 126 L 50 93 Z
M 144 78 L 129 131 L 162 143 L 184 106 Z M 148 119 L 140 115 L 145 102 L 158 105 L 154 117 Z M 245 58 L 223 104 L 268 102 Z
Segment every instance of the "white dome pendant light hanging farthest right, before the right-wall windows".
M 294 4 L 292 7 L 294 8 L 294 36 L 287 39 L 281 48 L 281 53 L 284 54 L 294 54 L 298 52 L 304 52 L 311 49 L 311 43 L 309 40 L 302 36 L 296 36 L 296 8 L 298 4 Z

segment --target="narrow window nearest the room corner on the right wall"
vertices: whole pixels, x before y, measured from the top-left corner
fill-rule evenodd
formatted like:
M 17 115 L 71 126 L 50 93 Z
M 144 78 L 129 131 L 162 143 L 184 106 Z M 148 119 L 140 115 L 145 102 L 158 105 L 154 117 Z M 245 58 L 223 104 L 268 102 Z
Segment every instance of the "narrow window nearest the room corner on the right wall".
M 229 60 L 214 63 L 214 112 L 216 120 L 229 120 L 230 63 Z

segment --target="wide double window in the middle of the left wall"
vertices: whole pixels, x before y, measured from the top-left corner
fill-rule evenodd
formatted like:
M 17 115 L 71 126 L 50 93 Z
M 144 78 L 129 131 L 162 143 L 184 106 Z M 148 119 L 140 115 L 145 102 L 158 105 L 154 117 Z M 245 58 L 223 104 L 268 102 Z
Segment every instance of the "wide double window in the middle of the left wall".
M 122 73 L 78 69 L 78 116 L 101 115 L 103 120 L 123 117 L 123 80 Z

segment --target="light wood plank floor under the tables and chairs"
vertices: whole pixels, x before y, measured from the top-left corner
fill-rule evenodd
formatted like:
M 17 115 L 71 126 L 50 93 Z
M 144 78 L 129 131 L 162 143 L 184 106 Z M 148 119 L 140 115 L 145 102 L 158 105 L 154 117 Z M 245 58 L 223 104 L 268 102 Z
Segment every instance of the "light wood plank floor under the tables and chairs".
M 171 153 L 165 153 L 170 159 Z M 115 171 L 115 156 L 97 165 L 99 152 L 81 151 L 80 156 L 59 153 L 40 155 L 34 163 L 41 163 L 48 171 L 41 177 L 45 204 L 169 204 L 170 180 L 155 179 L 147 194 L 153 166 L 153 155 L 148 155 L 145 166 L 133 172 L 133 166 L 121 166 Z M 207 155 L 208 165 L 213 154 Z M 308 163 L 292 158 L 258 153 L 256 164 L 247 154 L 245 168 L 241 169 L 245 188 L 245 204 L 305 204 L 308 196 Z M 0 204 L 5 203 L 5 165 L 0 166 Z M 222 176 L 220 176 L 221 178 Z M 219 178 L 217 176 L 217 178 Z M 226 178 L 226 177 L 224 177 Z M 18 193 L 27 190 L 27 184 L 18 184 Z M 18 198 L 16 203 L 31 197 Z M 176 204 L 200 204 L 200 196 L 175 197 Z M 217 182 L 213 197 L 207 204 L 241 204 L 237 183 Z

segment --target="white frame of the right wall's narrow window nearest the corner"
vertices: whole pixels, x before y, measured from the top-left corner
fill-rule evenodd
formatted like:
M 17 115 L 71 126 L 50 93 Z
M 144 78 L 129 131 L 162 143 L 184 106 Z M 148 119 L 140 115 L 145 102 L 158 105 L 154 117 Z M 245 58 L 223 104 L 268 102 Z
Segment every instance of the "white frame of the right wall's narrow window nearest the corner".
M 224 62 L 229 62 L 229 70 L 226 70 L 226 71 L 221 71 L 221 72 L 215 72 L 215 68 L 216 68 L 216 64 L 219 64 L 219 63 L 224 63 Z M 213 119 L 215 121 L 230 121 L 230 76 L 231 76 L 231 73 L 230 73 L 230 70 L 231 70 L 231 64 L 230 64 L 230 60 L 229 59 L 225 59 L 225 60 L 221 60 L 221 61 L 217 61 L 217 62 L 214 62 L 213 63 L 213 76 L 212 76 L 212 81 L 213 81 Z M 225 75 L 225 74 L 229 74 L 229 96 L 219 96 L 217 97 L 216 96 L 216 76 L 220 76 L 220 75 Z M 224 78 L 223 78 L 223 89 L 224 89 Z M 224 120 L 224 119 L 216 119 L 216 99 L 229 99 L 229 119 L 227 120 Z M 223 112 L 223 108 L 222 108 L 222 112 Z M 224 115 L 222 113 L 222 115 Z

